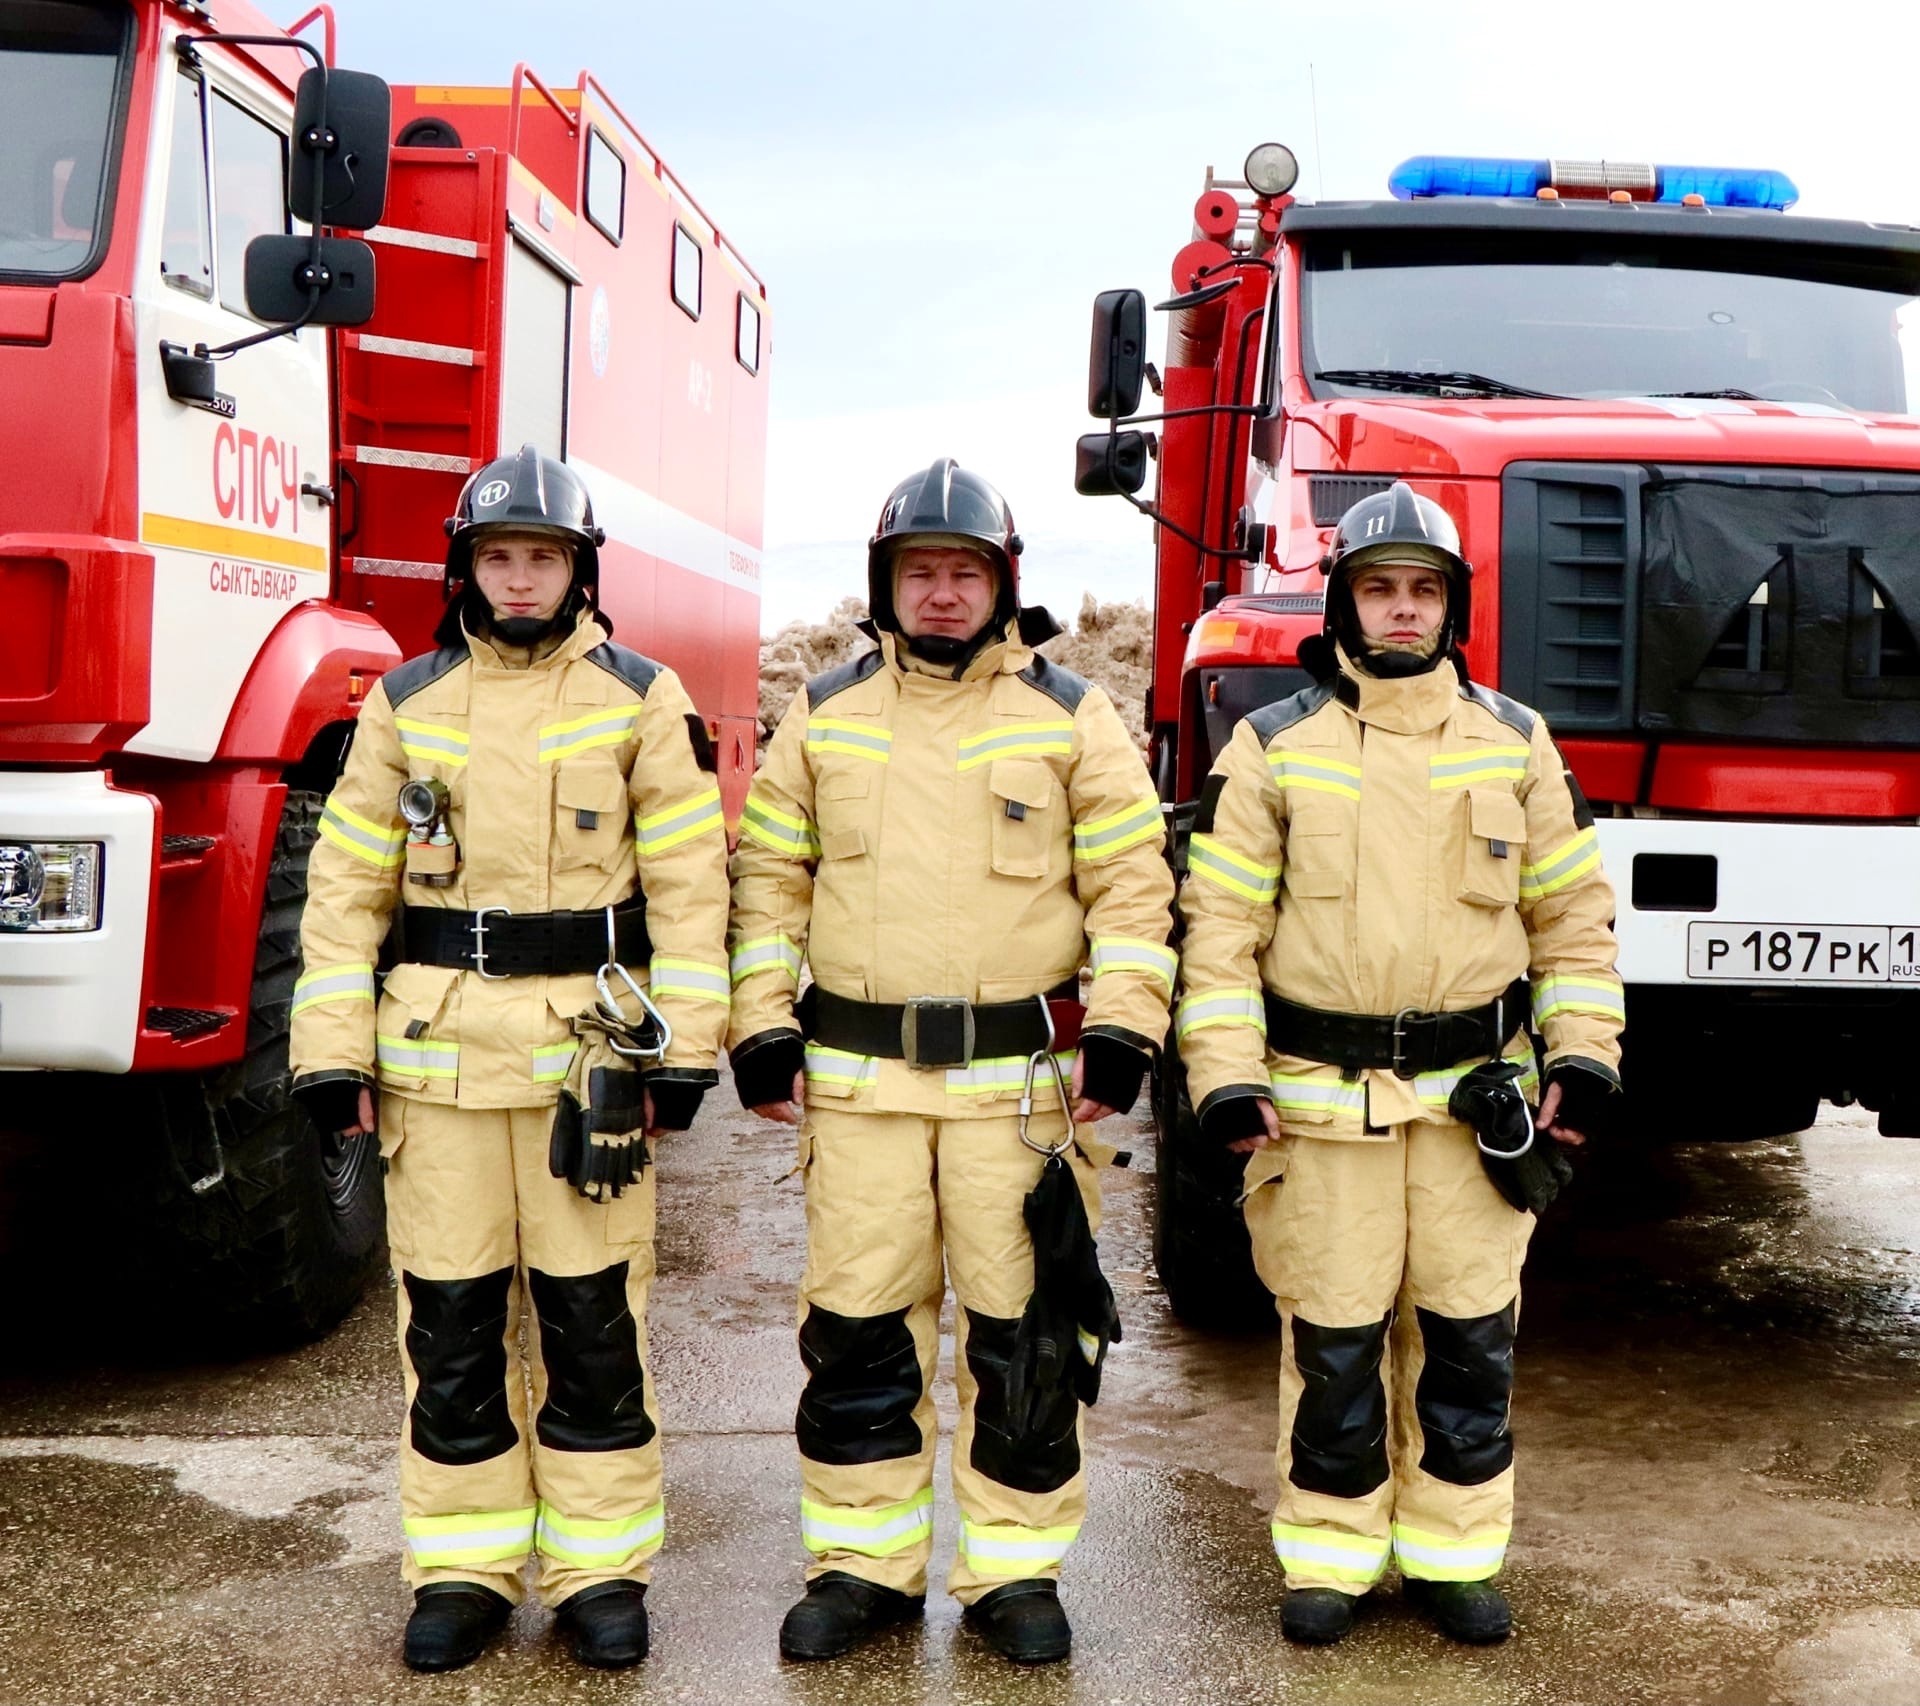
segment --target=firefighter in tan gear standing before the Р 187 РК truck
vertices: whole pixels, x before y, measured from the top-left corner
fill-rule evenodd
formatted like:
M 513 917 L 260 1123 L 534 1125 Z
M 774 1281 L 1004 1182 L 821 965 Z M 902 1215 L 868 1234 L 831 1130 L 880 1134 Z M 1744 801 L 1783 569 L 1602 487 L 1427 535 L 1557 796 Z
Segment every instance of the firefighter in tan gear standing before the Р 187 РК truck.
M 1546 723 L 1465 675 L 1440 505 L 1361 499 L 1329 572 L 1323 679 L 1202 791 L 1175 1023 L 1283 1320 L 1284 1633 L 1340 1639 L 1392 1560 L 1500 1641 L 1521 1261 L 1619 1088 L 1613 890 Z

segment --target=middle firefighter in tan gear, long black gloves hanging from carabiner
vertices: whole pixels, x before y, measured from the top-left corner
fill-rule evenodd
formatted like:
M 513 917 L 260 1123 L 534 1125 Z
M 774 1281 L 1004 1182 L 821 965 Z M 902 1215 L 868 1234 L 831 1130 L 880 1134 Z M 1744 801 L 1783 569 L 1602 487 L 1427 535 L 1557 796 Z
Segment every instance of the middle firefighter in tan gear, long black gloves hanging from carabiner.
M 770 1117 L 804 1103 L 812 1566 L 787 1658 L 845 1652 L 924 1604 L 943 1249 L 960 1397 L 948 1587 L 1000 1654 L 1069 1648 L 1056 1583 L 1087 1506 L 1081 1397 L 1110 1320 L 1035 1326 L 1052 1282 L 1037 1286 L 1023 1203 L 1044 1190 L 1039 1151 L 1062 1148 L 1048 1173 L 1092 1267 L 1112 1151 L 1085 1123 L 1133 1103 L 1164 1038 L 1173 887 L 1112 700 L 1033 651 L 1056 629 L 1020 610 L 1018 553 L 977 476 L 939 461 L 902 482 L 870 543 L 879 649 L 793 700 L 741 819 L 733 1073 Z M 1058 1015 L 1083 965 L 1075 1059 Z M 1104 1291 L 1096 1268 L 1091 1282 Z

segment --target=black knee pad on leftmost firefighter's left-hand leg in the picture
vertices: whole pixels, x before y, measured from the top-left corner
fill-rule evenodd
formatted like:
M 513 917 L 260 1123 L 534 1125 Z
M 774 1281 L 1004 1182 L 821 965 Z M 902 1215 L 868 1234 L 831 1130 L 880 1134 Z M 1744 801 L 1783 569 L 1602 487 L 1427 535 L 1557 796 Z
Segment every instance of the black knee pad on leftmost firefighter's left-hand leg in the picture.
M 432 1462 L 463 1468 L 520 1443 L 507 1409 L 507 1291 L 513 1268 L 407 1288 L 407 1361 L 419 1378 L 407 1432 Z

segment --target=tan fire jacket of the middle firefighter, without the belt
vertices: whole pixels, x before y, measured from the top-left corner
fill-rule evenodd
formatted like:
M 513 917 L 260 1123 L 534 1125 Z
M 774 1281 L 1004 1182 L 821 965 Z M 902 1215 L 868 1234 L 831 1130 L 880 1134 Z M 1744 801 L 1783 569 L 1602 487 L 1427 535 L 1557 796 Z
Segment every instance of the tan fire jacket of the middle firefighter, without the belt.
M 733 854 L 730 1046 L 795 1029 L 801 963 L 868 1002 L 1014 1002 L 1091 960 L 1087 1029 L 1156 1050 L 1175 958 L 1160 800 L 1112 700 L 1018 639 L 962 679 L 893 635 L 797 695 Z M 808 1098 L 1004 1113 L 1023 1057 L 950 1071 L 806 1048 Z

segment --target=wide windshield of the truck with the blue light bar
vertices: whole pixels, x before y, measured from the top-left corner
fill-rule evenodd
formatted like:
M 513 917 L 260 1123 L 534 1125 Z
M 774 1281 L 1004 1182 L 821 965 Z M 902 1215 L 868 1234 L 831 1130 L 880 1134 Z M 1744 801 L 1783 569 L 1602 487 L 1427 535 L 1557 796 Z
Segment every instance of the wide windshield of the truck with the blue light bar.
M 1738 259 L 1736 259 L 1738 255 Z M 1912 257 L 1507 236 L 1313 244 L 1302 347 L 1317 397 L 1730 397 L 1920 413 Z M 1498 382 L 1463 384 L 1482 374 Z

